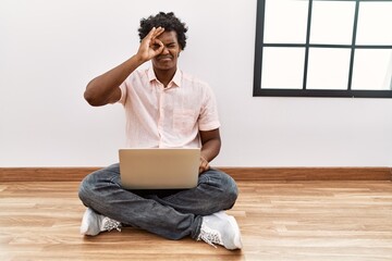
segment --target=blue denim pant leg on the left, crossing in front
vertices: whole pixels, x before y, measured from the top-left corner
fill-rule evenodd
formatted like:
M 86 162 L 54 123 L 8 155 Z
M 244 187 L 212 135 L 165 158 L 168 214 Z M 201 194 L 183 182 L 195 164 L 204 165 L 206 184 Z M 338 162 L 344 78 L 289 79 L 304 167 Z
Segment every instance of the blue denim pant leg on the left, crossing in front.
M 78 195 L 86 207 L 102 215 L 166 238 L 196 238 L 200 231 L 200 215 L 189 211 L 180 212 L 173 207 L 163 206 L 122 188 L 119 164 L 86 176 Z

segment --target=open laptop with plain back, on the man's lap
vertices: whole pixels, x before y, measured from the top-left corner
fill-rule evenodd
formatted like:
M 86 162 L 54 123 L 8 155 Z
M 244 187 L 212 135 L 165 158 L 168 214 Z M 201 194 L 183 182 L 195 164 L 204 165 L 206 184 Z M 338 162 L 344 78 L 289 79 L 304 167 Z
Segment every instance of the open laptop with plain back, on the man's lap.
M 121 184 L 126 189 L 196 187 L 200 149 L 120 149 Z

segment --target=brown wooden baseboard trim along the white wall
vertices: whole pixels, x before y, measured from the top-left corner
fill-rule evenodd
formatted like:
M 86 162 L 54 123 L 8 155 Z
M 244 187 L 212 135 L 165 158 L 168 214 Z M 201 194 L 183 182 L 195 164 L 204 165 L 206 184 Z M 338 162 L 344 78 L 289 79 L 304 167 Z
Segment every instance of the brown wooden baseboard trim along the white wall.
M 100 167 L 0 167 L 0 182 L 79 182 Z M 392 181 L 391 167 L 218 167 L 236 181 Z

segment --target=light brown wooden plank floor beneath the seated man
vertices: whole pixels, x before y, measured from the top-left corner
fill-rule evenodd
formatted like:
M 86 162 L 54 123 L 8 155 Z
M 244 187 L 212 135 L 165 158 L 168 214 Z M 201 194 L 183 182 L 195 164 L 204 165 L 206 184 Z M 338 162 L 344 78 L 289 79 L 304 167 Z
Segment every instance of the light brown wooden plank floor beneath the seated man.
M 0 184 L 0 260 L 392 260 L 388 181 L 240 181 L 242 251 L 135 228 L 85 238 L 77 186 Z

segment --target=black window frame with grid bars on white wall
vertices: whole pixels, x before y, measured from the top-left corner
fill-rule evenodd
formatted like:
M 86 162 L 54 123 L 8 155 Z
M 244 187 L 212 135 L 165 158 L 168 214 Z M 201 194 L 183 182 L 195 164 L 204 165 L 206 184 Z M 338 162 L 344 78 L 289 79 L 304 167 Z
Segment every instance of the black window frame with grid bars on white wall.
M 305 44 L 265 44 L 264 42 L 264 28 L 265 28 L 265 11 L 266 0 L 257 0 L 257 15 L 256 15 L 256 40 L 255 40 L 255 63 L 254 63 L 254 97 L 350 97 L 350 98 L 392 98 L 392 90 L 357 90 L 351 89 L 353 66 L 355 50 L 357 49 L 392 49 L 391 46 L 380 45 L 356 45 L 356 27 L 358 23 L 358 10 L 359 3 L 369 0 L 333 0 L 333 1 L 354 1 L 355 14 L 353 25 L 353 39 L 351 45 L 320 45 L 309 44 L 310 37 L 310 23 L 311 23 L 311 8 L 314 0 L 308 0 L 308 17 L 307 17 L 307 33 Z M 381 1 L 381 0 L 379 0 Z M 391 0 L 384 0 L 391 1 Z M 262 70 L 262 50 L 265 47 L 301 47 L 305 48 L 305 64 L 304 64 L 304 77 L 302 89 L 283 89 L 283 88 L 261 88 L 261 70 Z M 306 77 L 308 70 L 308 53 L 309 48 L 347 48 L 351 49 L 351 59 L 348 67 L 348 83 L 347 89 L 306 89 Z M 391 79 L 392 80 L 392 79 Z

